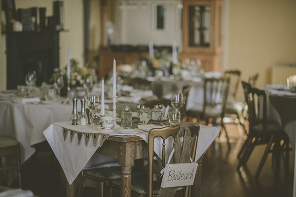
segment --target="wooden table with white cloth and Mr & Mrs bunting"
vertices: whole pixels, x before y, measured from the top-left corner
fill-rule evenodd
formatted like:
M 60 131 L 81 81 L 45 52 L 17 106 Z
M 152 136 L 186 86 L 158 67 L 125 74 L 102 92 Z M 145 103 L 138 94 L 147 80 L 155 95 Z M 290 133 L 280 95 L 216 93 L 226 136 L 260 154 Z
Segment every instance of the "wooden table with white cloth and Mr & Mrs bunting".
M 68 134 L 63 136 L 63 129 L 65 128 L 69 131 Z M 99 139 L 96 145 L 91 143 L 91 140 L 88 143 L 84 141 L 86 134 L 90 132 L 93 132 L 92 135 L 96 135 Z M 194 197 L 199 195 L 202 156 L 219 132 L 220 130 L 216 127 L 204 125 L 200 127 L 195 160 L 195 162 L 199 163 L 199 166 L 195 186 L 193 187 L 195 189 L 192 190 Z M 74 126 L 70 125 L 69 122 L 57 122 L 50 125 L 43 133 L 65 172 L 67 197 L 75 197 L 77 176 L 94 153 L 118 159 L 118 164 L 121 166 L 120 195 L 121 197 L 131 197 L 131 170 L 138 159 L 147 158 L 148 132 L 143 131 L 127 135 L 115 131 L 114 133 L 104 134 L 86 126 Z M 80 144 L 78 142 L 79 133 L 82 134 L 80 135 Z M 156 152 L 156 154 L 160 153 Z

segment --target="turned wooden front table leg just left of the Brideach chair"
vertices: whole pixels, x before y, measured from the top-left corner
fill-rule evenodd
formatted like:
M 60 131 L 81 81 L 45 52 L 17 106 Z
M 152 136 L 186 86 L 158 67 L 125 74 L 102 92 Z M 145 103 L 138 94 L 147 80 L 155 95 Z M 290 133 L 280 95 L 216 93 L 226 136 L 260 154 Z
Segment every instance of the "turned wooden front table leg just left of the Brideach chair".
M 118 163 L 121 165 L 121 197 L 131 197 L 132 166 L 135 164 L 135 143 L 118 144 Z

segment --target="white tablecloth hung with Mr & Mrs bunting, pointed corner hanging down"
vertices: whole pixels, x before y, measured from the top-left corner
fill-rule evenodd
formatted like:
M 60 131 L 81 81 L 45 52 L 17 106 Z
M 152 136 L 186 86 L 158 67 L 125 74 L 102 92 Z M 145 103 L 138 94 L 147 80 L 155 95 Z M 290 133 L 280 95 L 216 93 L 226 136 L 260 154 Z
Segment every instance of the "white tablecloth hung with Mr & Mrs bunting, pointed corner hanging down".
M 71 129 L 77 132 L 81 132 L 81 141 L 78 145 L 78 136 L 77 133 L 74 134 L 72 142 L 71 135 L 68 133 L 65 141 L 63 135 L 63 127 L 67 129 Z M 43 133 L 51 146 L 56 158 L 59 160 L 66 178 L 69 184 L 72 184 L 79 172 L 88 162 L 88 160 L 94 155 L 95 151 L 99 148 L 101 138 L 98 137 L 98 142 L 95 146 L 93 146 L 92 138 L 89 140 L 87 145 L 85 144 L 85 133 L 99 133 L 100 131 L 94 128 L 86 127 L 86 126 L 74 126 L 69 122 L 57 122 L 51 124 L 48 128 L 46 128 Z M 200 127 L 200 134 L 197 143 L 197 151 L 196 151 L 196 160 L 200 158 L 200 156 L 210 147 L 213 143 L 220 130 L 216 127 L 203 126 Z M 103 135 L 106 133 L 102 133 Z M 113 131 L 109 133 L 110 135 L 128 135 L 122 134 L 117 131 Z M 131 134 L 140 136 L 146 142 L 148 140 L 148 132 L 141 132 L 136 134 Z M 161 143 L 160 143 L 161 144 Z M 103 145 L 104 146 L 104 145 Z M 161 148 L 159 148 L 159 151 Z M 156 151 L 156 154 L 160 155 L 160 152 Z M 169 155 L 169 154 L 166 154 Z

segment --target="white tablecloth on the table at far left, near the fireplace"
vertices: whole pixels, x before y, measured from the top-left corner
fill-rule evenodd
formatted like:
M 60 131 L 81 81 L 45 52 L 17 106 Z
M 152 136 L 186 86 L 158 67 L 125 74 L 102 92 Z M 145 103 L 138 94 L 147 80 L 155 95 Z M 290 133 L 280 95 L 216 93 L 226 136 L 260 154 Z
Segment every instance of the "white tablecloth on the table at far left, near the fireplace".
M 18 104 L 0 101 L 0 135 L 20 143 L 21 162 L 30 158 L 33 145 L 45 141 L 42 131 L 52 122 L 70 119 L 72 106 L 46 104 Z

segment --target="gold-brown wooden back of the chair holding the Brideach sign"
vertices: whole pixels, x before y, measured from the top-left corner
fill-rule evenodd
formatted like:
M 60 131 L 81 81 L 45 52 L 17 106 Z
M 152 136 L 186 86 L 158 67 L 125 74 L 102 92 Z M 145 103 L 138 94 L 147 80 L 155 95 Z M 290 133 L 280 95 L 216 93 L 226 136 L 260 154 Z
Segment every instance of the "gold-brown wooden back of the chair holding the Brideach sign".
M 166 142 L 165 140 L 172 136 L 175 139 L 176 134 L 179 131 L 180 126 L 170 127 L 166 126 L 163 128 L 154 128 L 151 129 L 148 136 L 148 197 L 152 197 L 152 182 L 157 181 L 158 178 L 162 178 L 162 175 L 157 176 L 153 174 L 153 156 L 154 156 L 154 139 L 156 137 L 160 137 L 162 140 L 162 168 L 165 167 L 165 158 L 166 158 Z M 195 159 L 196 154 L 196 146 L 198 141 L 199 129 L 200 126 L 196 123 L 188 123 L 188 128 L 191 132 L 191 140 L 190 140 L 190 156 L 192 160 Z M 159 180 L 158 180 L 159 181 Z

